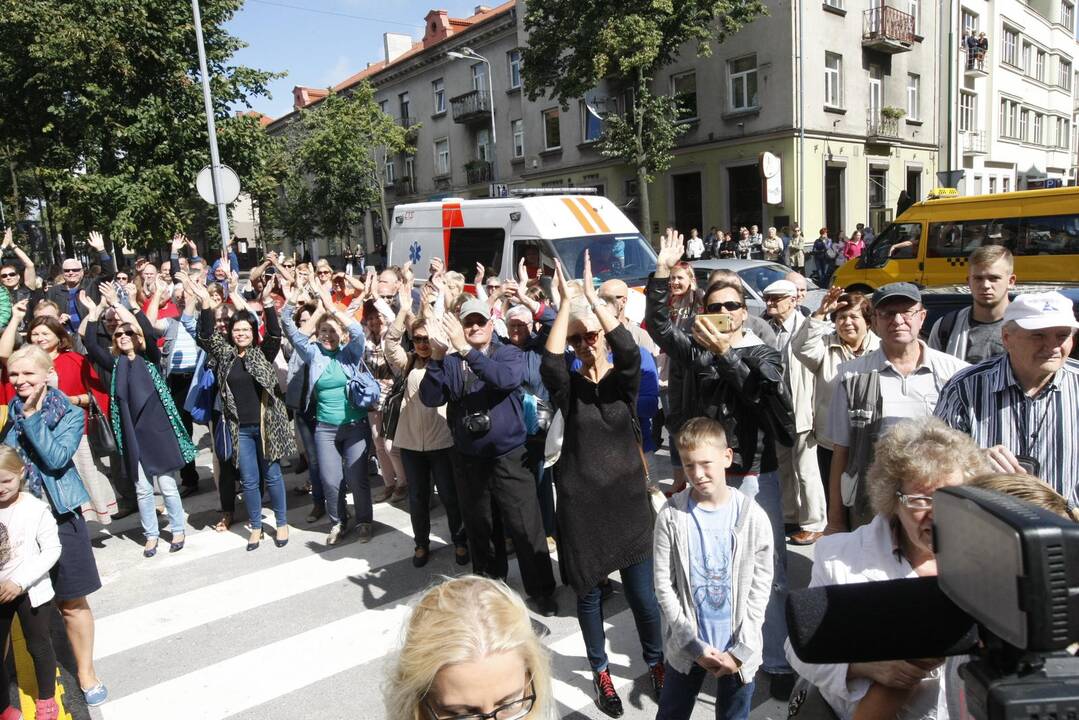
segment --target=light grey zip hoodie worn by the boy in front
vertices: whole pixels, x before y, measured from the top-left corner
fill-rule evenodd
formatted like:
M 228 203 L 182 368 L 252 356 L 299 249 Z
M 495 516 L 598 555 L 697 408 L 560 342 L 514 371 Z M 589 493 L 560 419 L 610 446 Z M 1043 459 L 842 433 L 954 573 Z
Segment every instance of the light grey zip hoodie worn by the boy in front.
M 732 643 L 727 651 L 740 663 L 742 682 L 751 682 L 764 648 L 764 610 L 771 592 L 771 524 L 754 500 L 728 488 L 739 503 L 730 559 Z M 675 494 L 656 517 L 654 582 L 664 615 L 664 657 L 686 675 L 705 652 L 697 633 L 697 608 L 689 585 L 689 492 Z M 723 650 L 723 648 L 718 648 Z

